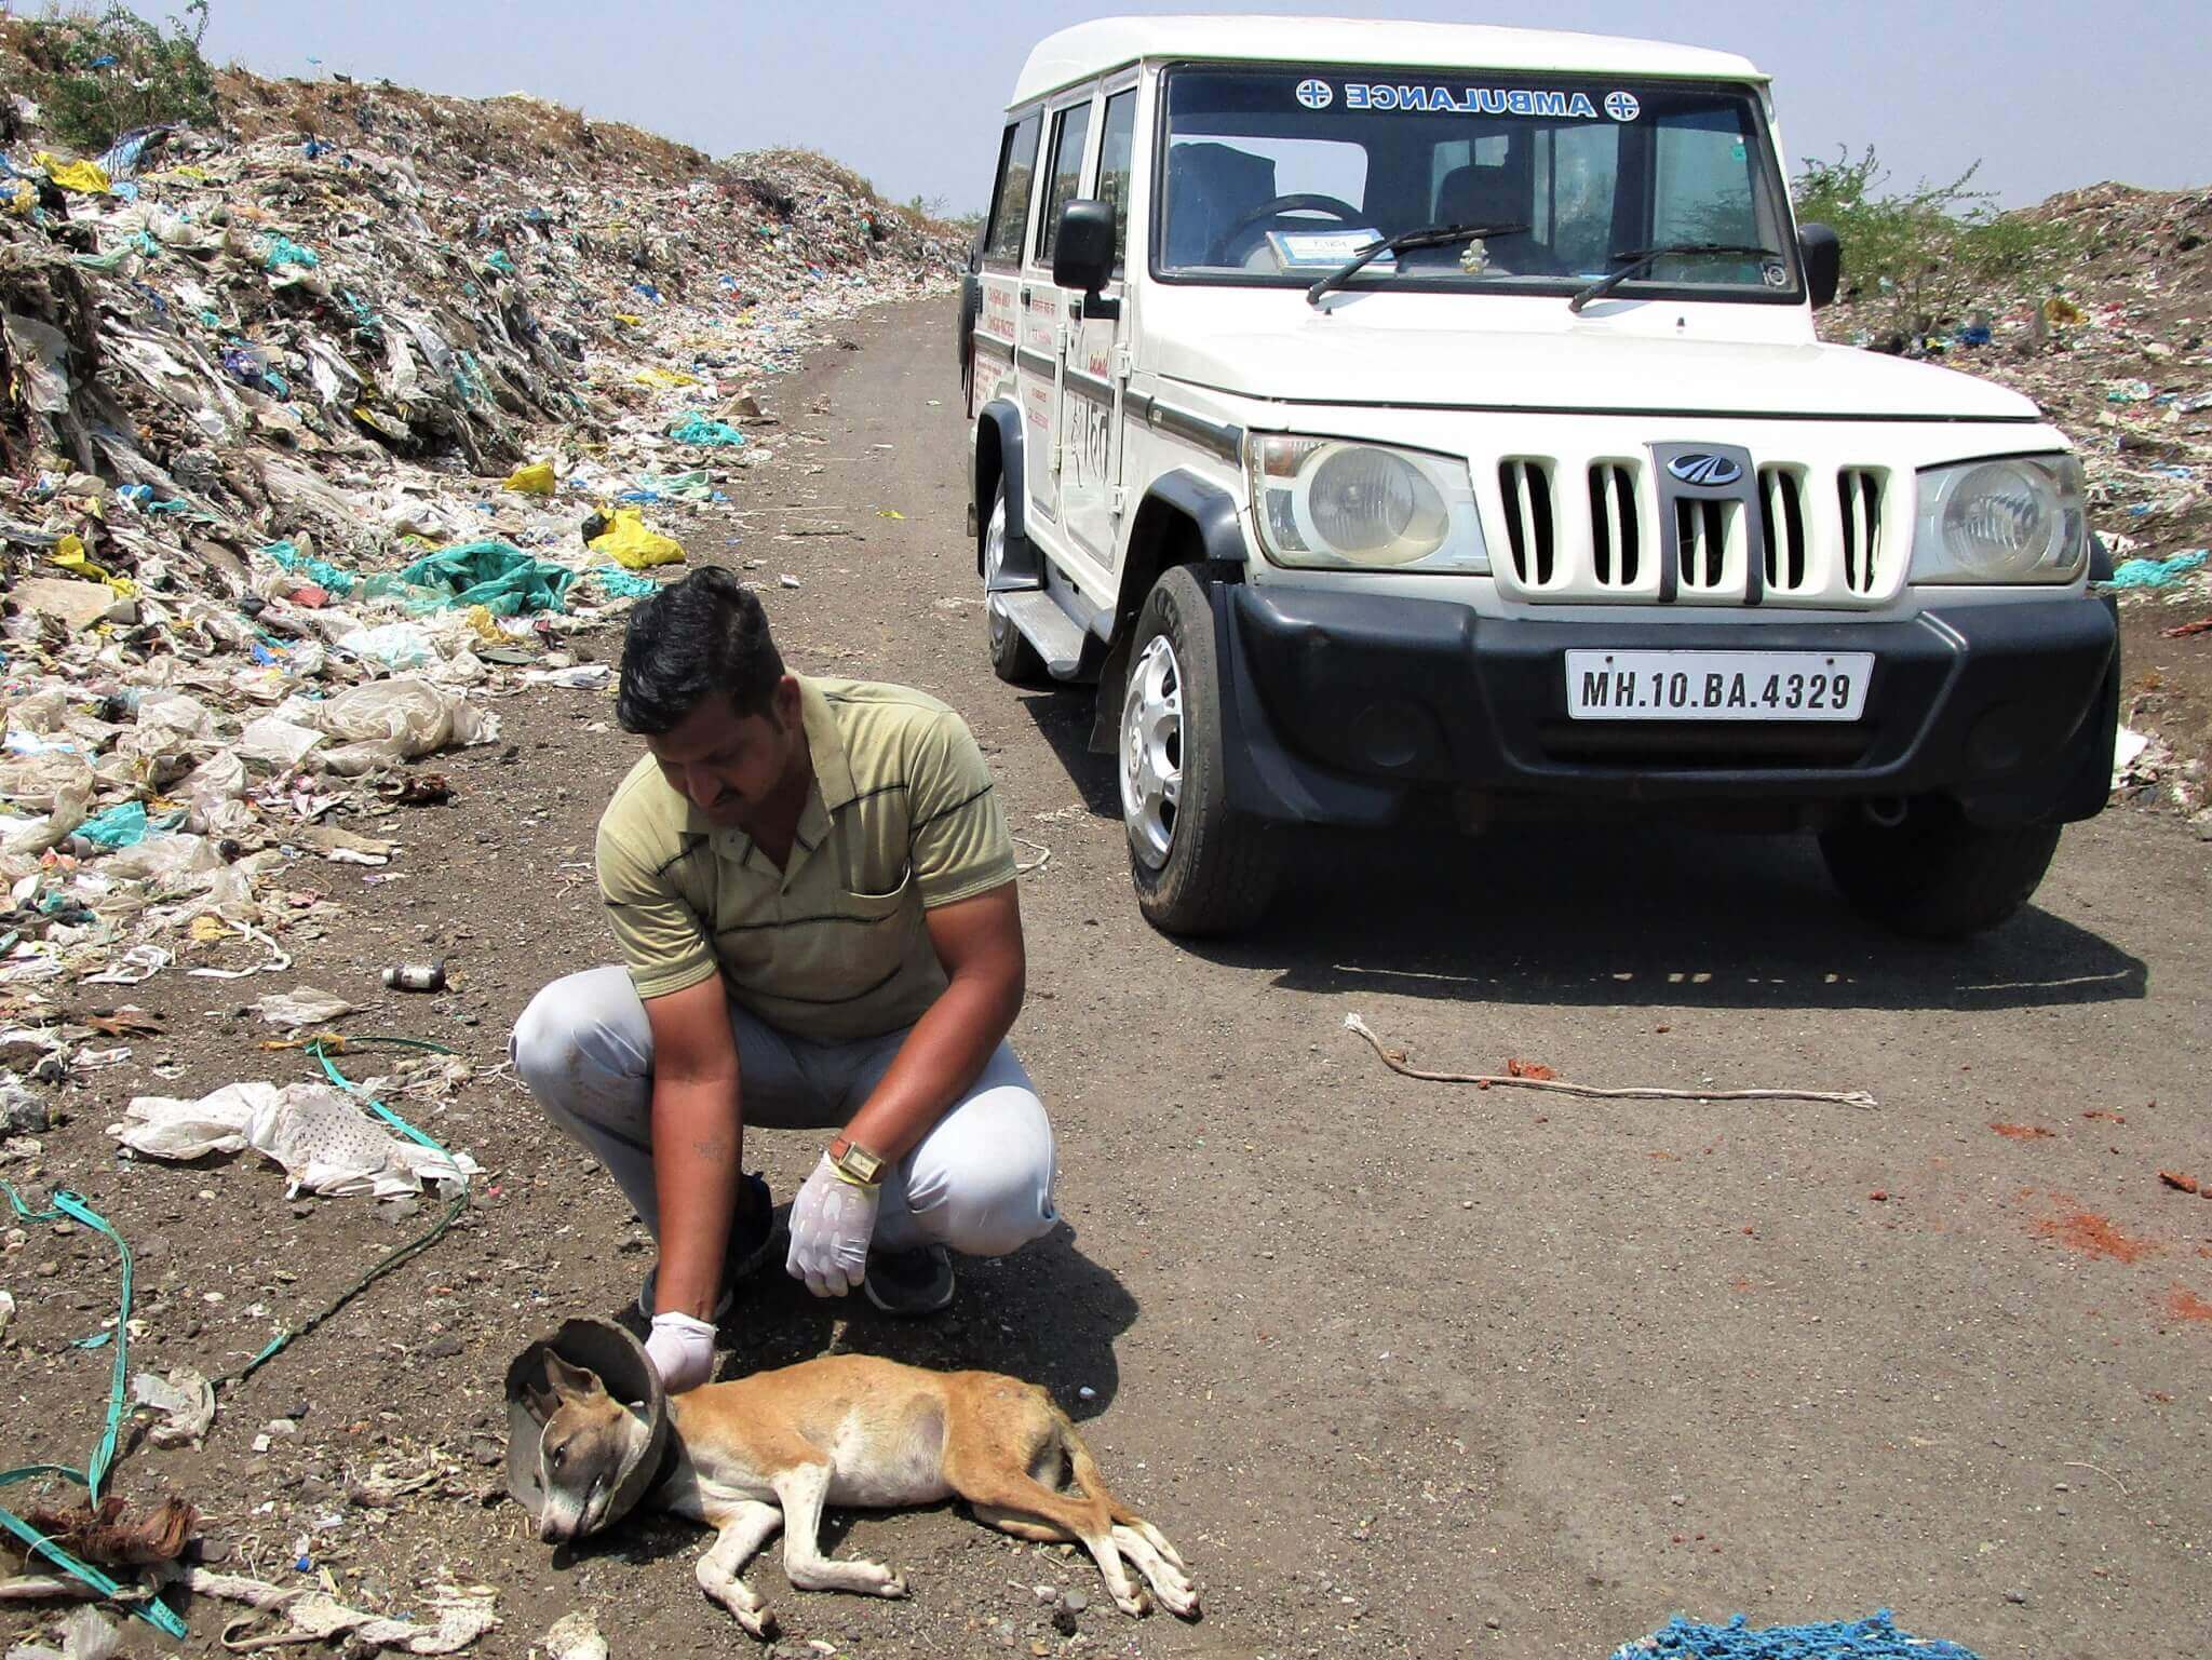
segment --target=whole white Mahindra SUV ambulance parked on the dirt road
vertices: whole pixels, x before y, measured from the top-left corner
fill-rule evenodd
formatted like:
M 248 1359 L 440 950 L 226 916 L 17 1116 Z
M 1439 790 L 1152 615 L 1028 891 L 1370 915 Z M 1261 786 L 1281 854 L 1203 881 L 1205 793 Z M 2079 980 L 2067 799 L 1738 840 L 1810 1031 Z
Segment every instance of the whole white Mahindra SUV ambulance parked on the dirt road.
M 2011 916 L 2119 657 L 2035 405 L 1814 339 L 1767 80 L 1595 35 L 1115 18 L 1006 106 L 960 314 L 1011 682 L 1097 682 L 1130 872 L 1250 923 L 1281 826 L 1694 810 L 1863 912 Z

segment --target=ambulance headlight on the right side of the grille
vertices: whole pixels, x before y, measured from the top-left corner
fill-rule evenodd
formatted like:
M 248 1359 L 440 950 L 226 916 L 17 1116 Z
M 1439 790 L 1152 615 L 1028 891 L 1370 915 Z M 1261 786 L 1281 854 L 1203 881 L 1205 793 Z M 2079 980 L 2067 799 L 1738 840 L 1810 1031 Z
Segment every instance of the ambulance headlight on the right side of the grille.
M 2073 456 L 1920 474 L 1913 582 L 2073 582 L 2086 562 L 2088 511 Z

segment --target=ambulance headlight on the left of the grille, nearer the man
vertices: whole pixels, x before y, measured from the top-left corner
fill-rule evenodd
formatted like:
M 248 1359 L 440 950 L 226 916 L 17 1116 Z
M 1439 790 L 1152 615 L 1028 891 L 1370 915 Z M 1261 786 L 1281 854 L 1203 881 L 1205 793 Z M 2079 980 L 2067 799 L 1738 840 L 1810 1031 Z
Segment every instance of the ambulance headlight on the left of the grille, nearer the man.
M 1489 573 L 1464 460 L 1340 438 L 1245 440 L 1252 522 L 1276 564 Z

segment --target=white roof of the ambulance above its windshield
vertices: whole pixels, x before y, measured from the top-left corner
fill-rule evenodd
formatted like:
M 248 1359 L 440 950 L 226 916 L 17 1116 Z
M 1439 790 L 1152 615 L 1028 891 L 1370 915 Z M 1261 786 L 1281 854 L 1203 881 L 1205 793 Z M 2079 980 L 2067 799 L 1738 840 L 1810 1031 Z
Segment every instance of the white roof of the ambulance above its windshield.
M 1668 80 L 1767 80 L 1750 60 L 1703 46 L 1548 29 L 1365 18 L 1095 18 L 1029 53 L 1009 108 L 1144 58 L 1387 69 L 1504 69 Z

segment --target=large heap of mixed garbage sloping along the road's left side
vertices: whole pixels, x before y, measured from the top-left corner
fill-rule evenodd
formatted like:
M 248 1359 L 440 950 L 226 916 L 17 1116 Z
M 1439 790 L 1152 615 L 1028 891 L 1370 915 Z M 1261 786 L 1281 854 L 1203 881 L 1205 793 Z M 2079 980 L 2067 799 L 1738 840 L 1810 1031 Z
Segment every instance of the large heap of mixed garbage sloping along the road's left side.
M 230 73 L 223 131 L 104 155 L 0 104 L 0 1005 L 31 1025 L 274 963 L 296 859 L 394 850 L 332 815 L 493 741 L 500 693 L 604 684 L 564 637 L 768 454 L 754 390 L 960 252 L 821 157 L 529 97 Z M 35 1116 L 0 1073 L 0 1135 Z

